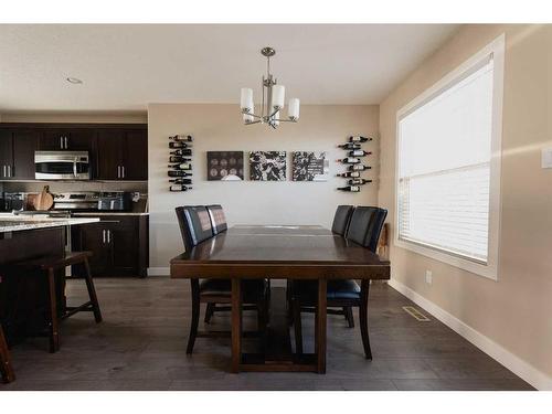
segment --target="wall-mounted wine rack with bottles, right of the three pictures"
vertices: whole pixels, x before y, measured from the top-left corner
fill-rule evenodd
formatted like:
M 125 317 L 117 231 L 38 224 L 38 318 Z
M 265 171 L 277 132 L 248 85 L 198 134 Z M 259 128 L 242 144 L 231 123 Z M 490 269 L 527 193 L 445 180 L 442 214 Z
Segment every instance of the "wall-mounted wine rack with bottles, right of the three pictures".
M 338 173 L 338 177 L 347 179 L 346 187 L 338 187 L 338 190 L 360 192 L 362 185 L 372 182 L 372 180 L 365 180 L 362 178 L 362 172 L 372 169 L 370 166 L 365 166 L 362 160 L 364 157 L 372 155 L 371 151 L 364 151 L 362 149 L 362 144 L 370 142 L 373 139 L 370 137 L 352 136 L 349 137 L 348 142 L 338 145 L 339 148 L 346 151 L 346 157 L 339 159 L 343 166 L 348 166 L 346 172 Z

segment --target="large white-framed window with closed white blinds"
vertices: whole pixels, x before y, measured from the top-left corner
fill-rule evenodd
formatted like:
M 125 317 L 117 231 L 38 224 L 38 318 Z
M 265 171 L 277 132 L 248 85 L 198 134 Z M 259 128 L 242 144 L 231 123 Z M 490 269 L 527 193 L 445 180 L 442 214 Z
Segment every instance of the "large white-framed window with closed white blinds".
M 395 244 L 497 277 L 503 35 L 397 113 Z

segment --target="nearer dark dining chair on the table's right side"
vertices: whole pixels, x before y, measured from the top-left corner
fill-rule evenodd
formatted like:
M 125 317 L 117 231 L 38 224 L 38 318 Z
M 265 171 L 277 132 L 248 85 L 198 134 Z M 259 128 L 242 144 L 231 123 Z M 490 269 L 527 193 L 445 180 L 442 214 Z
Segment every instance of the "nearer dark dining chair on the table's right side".
M 346 238 L 375 253 L 378 240 L 388 211 L 375 206 L 357 206 L 351 215 Z M 359 325 L 362 344 L 367 359 L 372 359 L 370 339 L 368 336 L 368 295 L 370 280 L 362 280 L 361 286 L 350 279 L 329 279 L 327 307 L 351 309 L 359 308 Z M 311 311 L 317 304 L 317 283 L 312 280 L 300 280 L 293 284 L 291 310 L 294 315 L 296 352 L 302 353 L 302 328 L 301 311 Z M 330 312 L 328 309 L 328 314 Z M 349 311 L 349 310 L 348 310 Z

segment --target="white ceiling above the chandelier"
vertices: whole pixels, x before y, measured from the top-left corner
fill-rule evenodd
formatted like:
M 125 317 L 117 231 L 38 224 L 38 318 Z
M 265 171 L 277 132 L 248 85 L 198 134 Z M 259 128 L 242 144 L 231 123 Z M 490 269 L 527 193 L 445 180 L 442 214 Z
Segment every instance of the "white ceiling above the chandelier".
M 378 104 L 454 24 L 0 25 L 0 112 L 237 103 L 272 72 L 302 104 Z M 72 85 L 73 76 L 84 81 Z

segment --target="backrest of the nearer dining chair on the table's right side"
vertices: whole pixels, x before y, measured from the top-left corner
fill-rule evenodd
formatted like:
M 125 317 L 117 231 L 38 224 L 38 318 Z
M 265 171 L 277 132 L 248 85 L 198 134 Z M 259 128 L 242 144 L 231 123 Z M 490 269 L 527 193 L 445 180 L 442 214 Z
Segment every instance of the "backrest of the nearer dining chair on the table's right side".
M 355 208 L 346 237 L 375 253 L 386 215 L 388 211 L 385 209 L 375 206 Z

